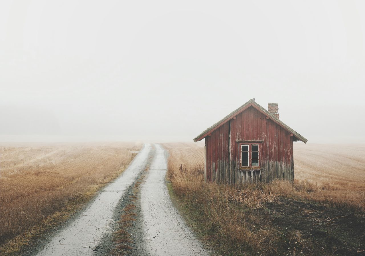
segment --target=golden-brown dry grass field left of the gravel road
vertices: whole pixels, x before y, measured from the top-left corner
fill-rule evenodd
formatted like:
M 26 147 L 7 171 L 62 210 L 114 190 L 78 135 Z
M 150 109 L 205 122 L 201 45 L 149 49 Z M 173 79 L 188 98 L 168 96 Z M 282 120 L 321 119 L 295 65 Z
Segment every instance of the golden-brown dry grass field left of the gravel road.
M 37 233 L 32 227 L 38 223 L 67 213 L 65 208 L 74 208 L 72 203 L 85 202 L 119 175 L 135 155 L 131 150 L 140 147 L 134 143 L 2 144 L 0 244 L 27 231 Z

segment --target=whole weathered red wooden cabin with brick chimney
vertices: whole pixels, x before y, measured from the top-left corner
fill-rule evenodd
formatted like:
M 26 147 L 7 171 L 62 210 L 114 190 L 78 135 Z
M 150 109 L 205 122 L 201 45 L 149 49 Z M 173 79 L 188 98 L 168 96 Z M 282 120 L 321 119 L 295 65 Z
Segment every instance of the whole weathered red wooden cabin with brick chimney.
M 268 110 L 251 99 L 194 139 L 205 138 L 205 181 L 294 180 L 293 142 L 307 139 L 279 120 L 277 103 Z

